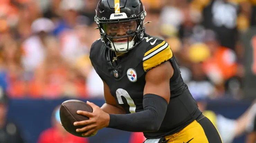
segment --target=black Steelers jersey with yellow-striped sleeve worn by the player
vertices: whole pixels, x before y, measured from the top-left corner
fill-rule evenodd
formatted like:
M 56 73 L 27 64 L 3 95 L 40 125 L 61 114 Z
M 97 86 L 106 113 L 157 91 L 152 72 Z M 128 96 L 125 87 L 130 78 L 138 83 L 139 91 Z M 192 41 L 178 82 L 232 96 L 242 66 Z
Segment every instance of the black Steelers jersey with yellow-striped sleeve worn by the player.
M 97 40 L 91 47 L 91 63 L 109 86 L 117 104 L 127 114 L 144 110 L 143 91 L 148 70 L 163 62 L 171 62 L 174 68 L 170 79 L 171 97 L 165 118 L 157 132 L 144 133 L 146 138 L 153 139 L 176 133 L 201 114 L 188 86 L 183 82 L 179 66 L 167 42 L 145 33 L 143 41 L 122 56 L 116 66 L 112 64 L 113 59 L 110 59 L 111 53 L 101 40 Z

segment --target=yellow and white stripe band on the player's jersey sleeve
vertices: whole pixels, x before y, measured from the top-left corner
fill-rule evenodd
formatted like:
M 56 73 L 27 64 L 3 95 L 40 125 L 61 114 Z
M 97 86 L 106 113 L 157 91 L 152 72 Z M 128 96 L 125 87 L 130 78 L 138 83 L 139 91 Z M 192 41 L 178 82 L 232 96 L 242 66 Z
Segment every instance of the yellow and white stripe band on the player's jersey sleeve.
M 163 62 L 168 61 L 173 56 L 170 45 L 166 43 L 162 47 L 158 48 L 156 51 L 148 54 L 143 58 L 143 68 L 146 72 L 147 70 L 156 67 Z

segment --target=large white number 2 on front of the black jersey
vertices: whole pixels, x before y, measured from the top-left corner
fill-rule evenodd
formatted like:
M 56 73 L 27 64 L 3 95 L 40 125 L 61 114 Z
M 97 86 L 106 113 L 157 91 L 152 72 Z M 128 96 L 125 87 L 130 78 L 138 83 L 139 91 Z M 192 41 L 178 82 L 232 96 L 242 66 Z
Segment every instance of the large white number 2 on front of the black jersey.
M 134 104 L 134 101 L 131 99 L 130 95 L 128 94 L 128 92 L 126 90 L 119 88 L 116 91 L 116 95 L 117 95 L 117 100 L 118 100 L 119 104 L 124 104 L 121 96 L 125 97 L 125 99 L 127 100 L 127 103 L 130 106 L 130 109 L 129 109 L 130 112 L 135 113 L 136 105 Z

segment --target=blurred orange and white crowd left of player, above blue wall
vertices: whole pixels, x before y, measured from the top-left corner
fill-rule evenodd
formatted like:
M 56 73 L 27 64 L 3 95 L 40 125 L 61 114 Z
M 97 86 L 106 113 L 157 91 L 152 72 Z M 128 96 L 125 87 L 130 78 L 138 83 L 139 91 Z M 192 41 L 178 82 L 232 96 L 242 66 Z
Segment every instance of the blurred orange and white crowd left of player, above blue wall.
M 95 5 L 97 1 L 0 1 L 0 84 L 11 97 L 102 94 L 94 89 L 100 87 L 95 87 L 89 59 L 90 46 L 99 37 Z

